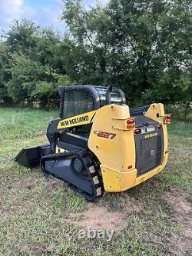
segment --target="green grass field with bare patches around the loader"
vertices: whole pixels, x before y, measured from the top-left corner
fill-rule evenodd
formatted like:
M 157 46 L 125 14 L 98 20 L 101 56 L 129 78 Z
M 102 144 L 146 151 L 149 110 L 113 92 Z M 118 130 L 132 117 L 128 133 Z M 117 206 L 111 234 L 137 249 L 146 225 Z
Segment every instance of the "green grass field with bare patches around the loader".
M 192 124 L 172 121 L 160 175 L 91 204 L 13 160 L 47 141 L 54 117 L 57 111 L 0 108 L 0 255 L 191 255 Z M 81 227 L 114 228 L 114 237 L 79 240 Z

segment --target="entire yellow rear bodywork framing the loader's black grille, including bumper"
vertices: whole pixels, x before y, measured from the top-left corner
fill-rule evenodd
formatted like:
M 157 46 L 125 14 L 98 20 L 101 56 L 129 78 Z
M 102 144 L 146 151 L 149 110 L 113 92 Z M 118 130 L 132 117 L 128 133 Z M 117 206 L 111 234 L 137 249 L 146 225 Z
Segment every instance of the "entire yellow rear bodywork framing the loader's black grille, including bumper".
M 152 104 L 145 116 L 160 122 L 162 125 L 164 156 L 160 166 L 137 177 L 134 130 L 127 130 L 127 119 L 130 118 L 128 106 L 106 105 L 96 112 L 88 139 L 88 147 L 101 162 L 105 191 L 119 192 L 132 188 L 157 175 L 167 164 L 167 125 L 164 123 L 164 105 Z M 104 131 L 116 134 L 116 136 L 112 139 L 103 138 L 94 131 Z M 157 136 L 157 133 L 146 135 L 146 138 L 151 138 L 151 136 Z

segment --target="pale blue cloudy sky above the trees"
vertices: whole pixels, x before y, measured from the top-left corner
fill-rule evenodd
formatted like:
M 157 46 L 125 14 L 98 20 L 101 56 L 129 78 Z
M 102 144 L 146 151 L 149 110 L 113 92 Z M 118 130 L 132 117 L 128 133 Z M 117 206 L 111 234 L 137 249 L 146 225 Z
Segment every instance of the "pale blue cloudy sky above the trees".
M 101 0 L 102 3 L 107 1 Z M 94 6 L 98 0 L 83 0 L 83 2 L 88 8 Z M 65 23 L 59 20 L 62 8 L 62 0 L 0 0 L 0 34 L 8 30 L 12 20 L 22 18 L 64 32 Z

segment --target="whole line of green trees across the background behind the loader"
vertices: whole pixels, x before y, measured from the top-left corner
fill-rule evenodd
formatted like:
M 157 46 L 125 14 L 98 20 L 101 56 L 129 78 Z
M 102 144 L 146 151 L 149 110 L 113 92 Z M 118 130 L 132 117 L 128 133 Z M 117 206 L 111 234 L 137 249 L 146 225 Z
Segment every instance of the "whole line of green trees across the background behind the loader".
M 189 106 L 192 5 L 189 0 L 110 0 L 84 8 L 64 0 L 64 35 L 27 19 L 0 42 L 0 100 L 42 107 L 61 85 L 114 85 L 131 104 Z

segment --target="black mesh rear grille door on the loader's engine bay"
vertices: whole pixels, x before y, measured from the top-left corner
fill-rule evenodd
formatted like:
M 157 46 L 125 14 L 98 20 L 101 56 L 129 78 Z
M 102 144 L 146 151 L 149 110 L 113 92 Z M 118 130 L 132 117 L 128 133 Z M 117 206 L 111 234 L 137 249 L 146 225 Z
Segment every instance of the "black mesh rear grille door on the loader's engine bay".
M 137 175 L 161 165 L 164 137 L 161 130 L 154 134 L 135 135 Z

